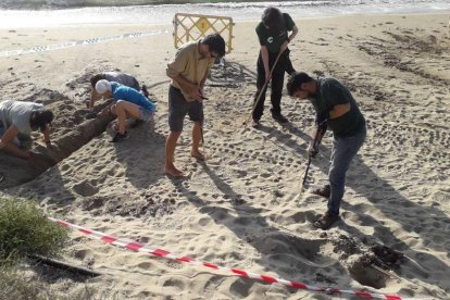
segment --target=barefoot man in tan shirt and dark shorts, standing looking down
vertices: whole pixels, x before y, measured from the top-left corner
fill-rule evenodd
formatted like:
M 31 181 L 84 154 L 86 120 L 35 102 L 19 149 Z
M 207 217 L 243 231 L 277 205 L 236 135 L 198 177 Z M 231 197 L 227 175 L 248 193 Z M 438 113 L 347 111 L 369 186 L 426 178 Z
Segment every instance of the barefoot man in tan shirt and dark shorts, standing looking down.
M 225 55 L 225 40 L 213 34 L 204 39 L 183 45 L 175 59 L 167 64 L 166 74 L 172 78 L 168 88 L 168 126 L 171 133 L 165 142 L 165 173 L 182 177 L 184 173 L 175 167 L 176 142 L 183 132 L 186 114 L 193 121 L 193 158 L 203 160 L 199 150 L 203 123 L 203 87 L 216 58 Z

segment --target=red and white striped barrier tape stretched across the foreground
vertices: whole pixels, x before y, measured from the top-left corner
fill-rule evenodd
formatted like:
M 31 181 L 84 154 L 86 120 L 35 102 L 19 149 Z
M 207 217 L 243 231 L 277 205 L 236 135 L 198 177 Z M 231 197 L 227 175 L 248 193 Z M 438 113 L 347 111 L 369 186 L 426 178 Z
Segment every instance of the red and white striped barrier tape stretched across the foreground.
M 275 277 L 267 276 L 267 275 L 260 275 L 260 274 L 247 272 L 247 271 L 239 270 L 239 268 L 220 266 L 220 265 L 208 263 L 208 262 L 201 262 L 201 261 L 192 260 L 188 257 L 177 258 L 171 252 L 167 252 L 162 249 L 152 249 L 140 242 L 135 242 L 135 241 L 129 242 L 129 241 L 121 240 L 118 238 L 105 235 L 103 233 L 86 229 L 82 226 L 74 225 L 74 224 L 71 224 L 62 220 L 58 220 L 53 217 L 49 217 L 49 220 L 58 223 L 59 225 L 77 229 L 82 234 L 85 234 L 96 239 L 100 239 L 103 242 L 112 243 L 112 245 L 115 245 L 122 248 L 126 248 L 128 250 L 143 252 L 143 253 L 160 257 L 160 258 L 166 258 L 166 259 L 174 260 L 174 261 L 186 262 L 192 265 L 202 265 L 202 266 L 213 268 L 213 270 L 225 271 L 227 273 L 232 273 L 233 275 L 238 275 L 241 277 L 248 277 L 248 278 L 253 278 L 253 279 L 260 279 L 260 280 L 263 280 L 270 284 L 280 284 L 280 285 L 285 285 L 285 286 L 292 287 L 292 288 L 304 289 L 304 290 L 314 291 L 314 292 L 324 292 L 328 295 L 336 295 L 336 293 L 337 295 L 351 295 L 351 296 L 358 296 L 358 297 L 365 298 L 365 299 L 386 299 L 386 300 L 405 299 L 400 296 L 384 295 L 384 293 L 378 293 L 378 292 L 342 290 L 342 289 L 332 288 L 332 287 L 314 287 L 314 286 L 309 286 L 309 285 L 301 284 L 301 283 L 286 280 L 283 278 L 275 278 Z

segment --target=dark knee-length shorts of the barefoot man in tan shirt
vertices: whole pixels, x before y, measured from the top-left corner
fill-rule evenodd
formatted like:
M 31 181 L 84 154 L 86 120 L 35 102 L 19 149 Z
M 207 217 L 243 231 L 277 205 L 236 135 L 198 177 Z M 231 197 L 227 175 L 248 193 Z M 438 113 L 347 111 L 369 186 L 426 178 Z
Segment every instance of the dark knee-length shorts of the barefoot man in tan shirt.
M 182 91 L 171 85 L 168 88 L 168 127 L 171 132 L 183 132 L 186 114 L 189 115 L 190 121 L 203 122 L 203 103 L 186 101 Z

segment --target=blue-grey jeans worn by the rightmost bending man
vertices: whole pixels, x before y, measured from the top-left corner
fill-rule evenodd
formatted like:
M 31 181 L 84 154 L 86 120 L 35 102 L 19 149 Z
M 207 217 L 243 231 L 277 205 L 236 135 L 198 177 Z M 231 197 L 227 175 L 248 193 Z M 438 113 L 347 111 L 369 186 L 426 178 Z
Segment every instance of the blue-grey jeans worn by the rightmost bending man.
M 358 133 L 348 137 L 334 137 L 333 151 L 328 179 L 330 195 L 328 199 L 328 214 L 339 215 L 340 201 L 342 200 L 346 185 L 346 173 L 350 163 L 360 150 L 366 136 L 365 126 Z

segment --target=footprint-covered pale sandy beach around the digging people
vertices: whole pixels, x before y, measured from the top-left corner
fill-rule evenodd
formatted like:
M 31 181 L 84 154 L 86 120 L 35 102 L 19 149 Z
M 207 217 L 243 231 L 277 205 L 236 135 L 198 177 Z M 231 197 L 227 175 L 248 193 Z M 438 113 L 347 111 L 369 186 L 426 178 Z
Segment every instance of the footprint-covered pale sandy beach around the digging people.
M 449 12 L 296 24 L 299 35 L 289 47 L 296 70 L 345 83 L 367 120 L 366 142 L 348 172 L 342 220 L 329 230 L 311 224 L 326 208 L 311 190 L 327 180 L 330 133 L 298 196 L 314 127 L 312 105 L 285 91 L 282 109 L 289 125 L 272 120 L 267 97 L 262 128 L 242 126 L 255 92 L 255 22 L 236 24 L 234 50 L 208 82 L 205 162 L 189 155 L 186 120 L 176 152 L 176 164 L 190 173 L 184 180 L 163 174 L 165 67 L 176 51 L 171 33 L 0 58 L 1 100 L 39 101 L 55 113 L 53 152 L 36 135 L 32 147 L 39 154 L 32 161 L 0 153 L 0 193 L 36 201 L 79 226 L 202 262 L 317 287 L 450 299 Z M 1 29 L 0 52 L 167 28 Z M 109 120 L 84 104 L 88 78 L 112 70 L 135 75 L 158 104 L 154 124 L 130 129 L 130 138 L 117 145 L 109 142 Z M 63 260 L 103 275 L 74 280 L 53 274 L 49 285 L 66 293 L 87 286 L 96 299 L 339 297 L 71 236 Z

